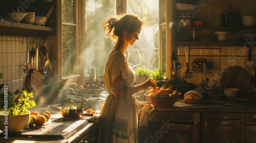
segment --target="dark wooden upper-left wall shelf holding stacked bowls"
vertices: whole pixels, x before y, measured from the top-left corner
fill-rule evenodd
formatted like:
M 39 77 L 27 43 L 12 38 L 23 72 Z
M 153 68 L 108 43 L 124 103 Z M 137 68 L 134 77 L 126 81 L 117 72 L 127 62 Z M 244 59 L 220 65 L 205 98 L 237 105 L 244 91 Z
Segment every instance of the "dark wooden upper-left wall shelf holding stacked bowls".
M 56 8 L 56 4 L 54 0 L 36 0 L 33 2 L 30 1 L 4 1 L 0 0 L 0 15 L 4 18 L 4 12 L 7 9 L 12 7 L 17 7 L 20 11 L 28 11 L 34 5 L 39 4 L 52 4 Z M 55 36 L 55 24 L 56 21 L 56 10 L 53 10 L 51 13 L 46 26 L 33 25 L 33 24 L 25 24 L 25 23 L 17 23 L 10 21 L 0 21 L 0 31 L 1 35 L 7 36 L 23 36 L 23 37 L 40 37 L 40 36 Z

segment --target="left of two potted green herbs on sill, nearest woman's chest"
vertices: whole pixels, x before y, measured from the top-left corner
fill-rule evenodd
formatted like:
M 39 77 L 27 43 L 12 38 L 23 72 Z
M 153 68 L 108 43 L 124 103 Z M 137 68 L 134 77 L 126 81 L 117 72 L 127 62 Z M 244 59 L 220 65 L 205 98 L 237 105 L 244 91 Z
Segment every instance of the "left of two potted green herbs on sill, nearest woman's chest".
M 150 76 L 150 70 L 145 68 L 145 66 L 136 68 L 135 73 L 139 84 L 145 82 Z

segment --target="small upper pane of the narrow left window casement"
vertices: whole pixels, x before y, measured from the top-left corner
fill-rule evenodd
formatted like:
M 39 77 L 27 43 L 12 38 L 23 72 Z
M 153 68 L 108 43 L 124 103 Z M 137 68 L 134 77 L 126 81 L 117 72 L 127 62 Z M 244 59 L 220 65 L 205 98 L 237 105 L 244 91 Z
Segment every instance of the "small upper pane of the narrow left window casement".
M 61 15 L 62 22 L 74 23 L 75 13 L 74 1 L 71 0 L 61 0 Z

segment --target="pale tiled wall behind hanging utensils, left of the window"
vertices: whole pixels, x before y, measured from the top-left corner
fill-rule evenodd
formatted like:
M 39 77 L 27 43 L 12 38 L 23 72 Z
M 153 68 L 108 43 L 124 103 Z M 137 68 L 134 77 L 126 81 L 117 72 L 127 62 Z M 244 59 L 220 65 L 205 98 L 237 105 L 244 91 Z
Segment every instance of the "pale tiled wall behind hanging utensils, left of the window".
M 0 73 L 3 73 L 0 83 L 6 84 L 11 92 L 21 91 L 27 84 L 27 75 L 23 72 L 26 55 L 26 42 L 23 40 L 27 38 L 0 35 Z

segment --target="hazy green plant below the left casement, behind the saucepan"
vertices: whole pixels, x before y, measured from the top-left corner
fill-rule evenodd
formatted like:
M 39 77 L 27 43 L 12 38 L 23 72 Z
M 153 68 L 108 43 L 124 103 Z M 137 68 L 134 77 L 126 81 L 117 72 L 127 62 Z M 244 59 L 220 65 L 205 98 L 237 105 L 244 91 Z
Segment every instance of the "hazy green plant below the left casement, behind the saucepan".
M 62 100 L 63 83 L 62 81 L 44 81 L 44 85 L 38 90 L 39 96 L 44 98 L 47 103 L 59 103 Z

